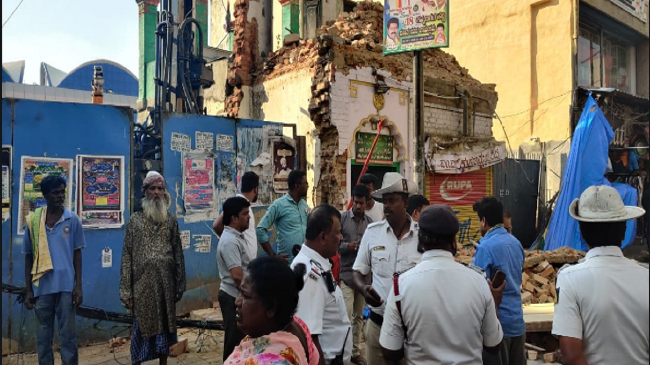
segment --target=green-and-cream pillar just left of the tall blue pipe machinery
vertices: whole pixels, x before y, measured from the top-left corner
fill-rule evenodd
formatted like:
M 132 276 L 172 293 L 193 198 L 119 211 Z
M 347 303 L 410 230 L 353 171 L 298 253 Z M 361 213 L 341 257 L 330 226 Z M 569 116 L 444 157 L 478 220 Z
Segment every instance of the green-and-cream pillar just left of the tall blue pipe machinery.
M 136 0 L 138 3 L 138 36 L 140 60 L 138 75 L 138 99 L 153 101 L 156 64 L 156 27 L 160 0 Z

